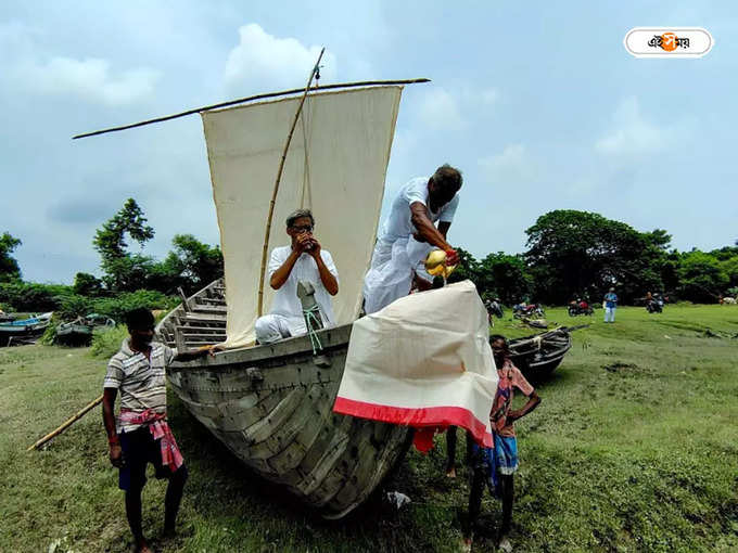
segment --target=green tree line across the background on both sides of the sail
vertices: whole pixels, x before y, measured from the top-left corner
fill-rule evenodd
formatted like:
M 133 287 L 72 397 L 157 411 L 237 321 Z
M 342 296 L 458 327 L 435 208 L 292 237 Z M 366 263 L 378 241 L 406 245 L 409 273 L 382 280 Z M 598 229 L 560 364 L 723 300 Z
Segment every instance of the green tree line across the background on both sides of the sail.
M 623 303 L 647 292 L 695 303 L 738 295 L 738 247 L 711 252 L 671 248 L 662 229 L 639 232 L 601 215 L 572 209 L 549 211 L 525 231 L 523 254 L 491 253 L 475 259 L 459 248 L 460 267 L 450 281 L 470 279 L 483 297 L 511 305 L 534 300 L 563 305 L 576 297 L 599 301 L 614 286 Z M 56 310 L 64 317 L 94 310 L 119 318 L 132 307 L 167 308 L 177 290 L 186 294 L 222 276 L 220 248 L 191 234 L 177 234 L 164 260 L 131 253 L 127 241 L 144 246 L 154 236 L 132 198 L 96 231 L 102 276 L 78 272 L 74 284 L 37 284 L 22 279 L 13 252 L 21 240 L 0 236 L 0 307 L 5 310 Z

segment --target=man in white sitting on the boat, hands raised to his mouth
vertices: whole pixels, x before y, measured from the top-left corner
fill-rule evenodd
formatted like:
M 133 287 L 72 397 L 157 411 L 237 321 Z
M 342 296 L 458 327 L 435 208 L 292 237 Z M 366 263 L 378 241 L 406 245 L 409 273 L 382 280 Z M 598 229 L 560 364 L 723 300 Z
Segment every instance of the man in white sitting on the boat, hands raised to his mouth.
M 289 246 L 276 247 L 269 257 L 269 285 L 277 291 L 269 314 L 256 320 L 256 339 L 269 344 L 307 333 L 297 283 L 309 282 L 320 308 L 323 326 L 334 324 L 331 296 L 339 293 L 339 271 L 331 253 L 313 234 L 315 219 L 309 209 L 297 209 L 287 218 Z

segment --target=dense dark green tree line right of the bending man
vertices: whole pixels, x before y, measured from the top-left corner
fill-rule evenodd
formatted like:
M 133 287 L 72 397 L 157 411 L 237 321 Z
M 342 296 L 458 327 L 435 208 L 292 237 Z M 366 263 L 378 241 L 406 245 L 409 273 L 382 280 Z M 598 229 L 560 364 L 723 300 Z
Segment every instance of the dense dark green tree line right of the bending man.
M 601 215 L 573 209 L 549 211 L 525 231 L 527 250 L 488 254 L 481 260 L 461 253 L 450 280 L 470 279 L 483 297 L 511 305 L 524 299 L 564 305 L 577 297 L 600 301 L 611 286 L 621 301 L 647 292 L 673 299 L 716 303 L 738 294 L 738 247 L 712 252 L 670 248 L 662 229 L 639 232 Z

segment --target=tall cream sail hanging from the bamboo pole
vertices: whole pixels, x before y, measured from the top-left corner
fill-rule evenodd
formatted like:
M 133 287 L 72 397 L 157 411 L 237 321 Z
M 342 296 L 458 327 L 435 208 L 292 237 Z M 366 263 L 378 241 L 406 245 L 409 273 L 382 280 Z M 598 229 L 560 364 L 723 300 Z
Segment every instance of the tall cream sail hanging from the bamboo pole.
M 291 211 L 313 210 L 315 236 L 339 270 L 336 324 L 353 322 L 361 307 L 402 90 L 311 93 L 288 151 L 268 248 L 290 243 Z M 227 347 L 254 340 L 269 202 L 298 103 L 289 98 L 202 114 L 226 262 Z M 267 274 L 264 313 L 272 296 Z

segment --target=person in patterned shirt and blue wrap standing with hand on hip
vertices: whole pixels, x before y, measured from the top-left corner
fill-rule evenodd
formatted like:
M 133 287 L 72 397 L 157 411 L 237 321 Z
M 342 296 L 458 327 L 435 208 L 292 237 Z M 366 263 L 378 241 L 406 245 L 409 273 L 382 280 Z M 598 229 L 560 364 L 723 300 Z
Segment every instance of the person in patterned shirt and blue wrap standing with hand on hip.
M 502 525 L 497 535 L 497 546 L 504 551 L 512 550 L 508 535 L 512 522 L 512 475 L 518 471 L 518 440 L 513 423 L 540 403 L 540 398 L 533 386 L 512 364 L 505 336 L 493 335 L 489 342 L 499 376 L 497 394 L 489 413 L 494 448 L 480 448 L 475 443 L 472 446 L 469 518 L 463 532 L 466 551 L 471 551 L 472 527 L 480 514 L 485 485 L 493 494 L 502 499 Z M 519 410 L 510 409 L 514 388 L 527 396 L 527 402 Z

